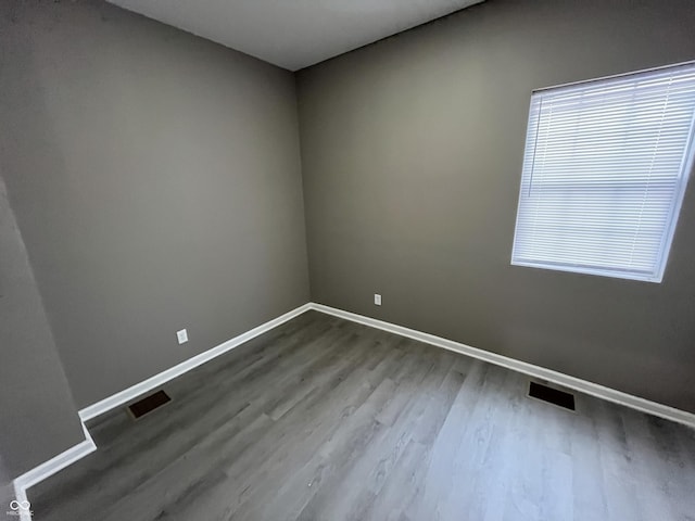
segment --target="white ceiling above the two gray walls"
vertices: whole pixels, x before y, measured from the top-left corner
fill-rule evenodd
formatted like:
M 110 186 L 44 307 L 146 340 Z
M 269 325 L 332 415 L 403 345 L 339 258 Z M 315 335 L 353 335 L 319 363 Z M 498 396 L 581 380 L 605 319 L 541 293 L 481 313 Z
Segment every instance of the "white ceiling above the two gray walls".
M 290 71 L 483 0 L 109 0 Z

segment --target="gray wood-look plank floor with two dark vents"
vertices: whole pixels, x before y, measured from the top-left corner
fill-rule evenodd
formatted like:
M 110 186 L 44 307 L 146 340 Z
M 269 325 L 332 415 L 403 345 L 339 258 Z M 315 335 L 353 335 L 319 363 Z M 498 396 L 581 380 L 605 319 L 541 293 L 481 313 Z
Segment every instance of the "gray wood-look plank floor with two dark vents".
M 306 313 L 89 425 L 36 521 L 695 520 L 694 431 Z

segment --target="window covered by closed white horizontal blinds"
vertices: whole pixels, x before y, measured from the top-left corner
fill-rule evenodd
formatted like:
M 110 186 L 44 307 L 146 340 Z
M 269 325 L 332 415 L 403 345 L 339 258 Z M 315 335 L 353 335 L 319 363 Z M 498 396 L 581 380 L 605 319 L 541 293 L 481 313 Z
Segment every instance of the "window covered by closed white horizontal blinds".
M 511 264 L 660 282 L 694 114 L 695 64 L 535 91 Z

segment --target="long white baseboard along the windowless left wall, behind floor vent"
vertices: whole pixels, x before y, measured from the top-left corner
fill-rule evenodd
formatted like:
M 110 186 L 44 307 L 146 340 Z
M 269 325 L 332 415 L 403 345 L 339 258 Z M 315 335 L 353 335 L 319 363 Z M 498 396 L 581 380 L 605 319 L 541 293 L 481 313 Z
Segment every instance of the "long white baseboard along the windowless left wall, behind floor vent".
M 261 326 L 253 328 L 247 331 L 245 333 L 241 333 L 240 335 L 235 336 L 233 339 L 230 339 L 217 345 L 216 347 L 213 347 L 204 353 L 201 353 L 191 358 L 188 358 L 187 360 L 184 360 L 180 364 L 177 364 L 176 366 L 170 367 L 169 369 L 166 369 L 157 374 L 154 374 L 153 377 L 148 378 L 147 380 L 136 383 L 135 385 L 131 385 L 130 387 L 125 389 L 116 394 L 112 394 L 111 396 L 81 409 L 79 411 L 79 418 L 83 421 L 89 421 L 92 418 L 103 415 L 104 412 L 108 412 L 109 410 L 115 407 L 124 405 L 130 402 L 131 399 L 137 398 L 141 394 L 147 393 L 148 391 L 152 391 L 153 389 L 156 389 L 165 384 L 169 380 L 173 380 L 176 377 L 180 377 L 181 374 L 190 371 L 191 369 L 194 369 L 198 366 L 205 364 L 206 361 L 210 361 L 213 358 L 216 358 L 219 355 L 223 355 L 230 350 L 233 350 L 235 347 L 243 344 L 244 342 L 249 342 L 250 340 L 258 336 L 260 334 L 263 334 L 267 331 L 270 331 L 274 328 L 277 328 L 281 323 L 285 323 L 288 320 L 291 320 L 292 318 L 307 312 L 308 309 L 311 309 L 311 303 L 296 307 L 291 312 L 288 312 L 285 315 L 280 315 L 279 317 L 274 318 L 273 320 L 268 320 L 267 322 L 262 323 Z

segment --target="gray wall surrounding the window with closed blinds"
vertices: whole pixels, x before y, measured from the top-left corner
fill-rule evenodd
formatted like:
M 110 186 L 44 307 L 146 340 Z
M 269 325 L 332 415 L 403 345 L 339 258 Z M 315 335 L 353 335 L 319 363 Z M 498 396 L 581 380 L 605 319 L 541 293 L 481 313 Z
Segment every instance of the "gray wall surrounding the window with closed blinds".
M 313 298 L 695 411 L 695 182 L 661 284 L 509 266 L 531 90 L 693 60 L 693 27 L 490 0 L 300 72 Z

